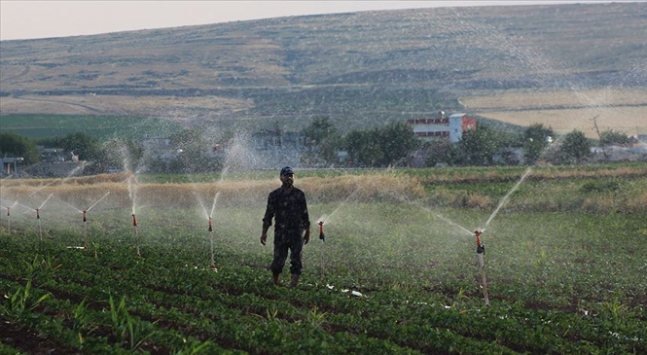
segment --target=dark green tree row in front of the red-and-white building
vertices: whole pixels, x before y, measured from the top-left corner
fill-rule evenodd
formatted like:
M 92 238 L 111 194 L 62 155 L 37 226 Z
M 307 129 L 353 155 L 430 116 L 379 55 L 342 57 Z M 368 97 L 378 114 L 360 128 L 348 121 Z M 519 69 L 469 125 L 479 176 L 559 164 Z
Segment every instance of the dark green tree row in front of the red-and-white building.
M 550 127 L 533 124 L 521 133 L 496 130 L 480 123 L 476 129 L 463 132 L 456 143 L 447 140 L 423 142 L 415 137 L 406 123 L 391 123 L 366 131 L 341 134 L 327 117 L 316 117 L 304 130 L 316 154 L 306 156 L 306 163 L 318 165 L 345 165 L 350 167 L 386 167 L 414 165 L 414 155 L 422 157 L 417 166 L 485 166 L 517 165 L 514 150 L 521 150 L 525 164 L 539 160 L 553 164 L 581 163 L 591 155 L 594 141 L 583 132 L 573 130 L 558 137 Z M 600 134 L 602 147 L 624 145 L 631 139 L 613 130 Z M 347 153 L 343 162 L 340 150 Z

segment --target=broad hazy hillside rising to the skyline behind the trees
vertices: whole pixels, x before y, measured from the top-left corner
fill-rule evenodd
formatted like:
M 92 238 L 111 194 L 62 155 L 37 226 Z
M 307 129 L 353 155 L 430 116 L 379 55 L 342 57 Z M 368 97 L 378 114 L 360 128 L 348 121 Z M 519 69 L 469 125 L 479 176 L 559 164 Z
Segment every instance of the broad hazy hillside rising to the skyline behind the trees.
M 644 89 L 647 4 L 433 8 L 0 42 L 2 114 L 342 128 L 504 91 Z M 645 102 L 638 107 L 644 109 Z M 505 111 L 505 108 L 504 108 Z M 479 114 L 479 112 L 474 112 Z

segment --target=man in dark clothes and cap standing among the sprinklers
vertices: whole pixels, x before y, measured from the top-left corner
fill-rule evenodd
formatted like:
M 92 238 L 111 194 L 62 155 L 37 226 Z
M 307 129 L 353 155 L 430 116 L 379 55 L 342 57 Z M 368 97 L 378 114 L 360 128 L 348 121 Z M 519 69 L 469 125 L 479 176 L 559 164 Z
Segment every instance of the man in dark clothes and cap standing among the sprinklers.
M 270 192 L 267 198 L 267 208 L 263 217 L 263 232 L 261 244 L 267 241 L 267 230 L 274 218 L 274 260 L 270 269 L 275 285 L 280 285 L 279 277 L 285 266 L 285 260 L 290 251 L 291 287 L 299 283 L 303 264 L 301 251 L 310 241 L 310 217 L 306 195 L 294 187 L 294 171 L 286 166 L 280 173 L 281 187 Z M 304 233 L 305 232 L 305 233 Z

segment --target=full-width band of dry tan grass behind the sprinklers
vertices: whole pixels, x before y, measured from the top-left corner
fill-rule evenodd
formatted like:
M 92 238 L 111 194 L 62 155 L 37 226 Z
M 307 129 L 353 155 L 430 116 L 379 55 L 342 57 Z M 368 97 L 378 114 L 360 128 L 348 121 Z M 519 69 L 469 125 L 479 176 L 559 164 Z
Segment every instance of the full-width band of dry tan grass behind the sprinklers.
M 480 175 L 479 175 L 480 174 Z M 515 196 L 506 208 L 520 210 L 583 210 L 592 213 L 644 211 L 647 206 L 646 167 L 620 167 L 591 170 L 537 168 L 527 177 L 540 189 Z M 427 177 L 424 183 L 509 182 L 511 175 L 479 172 Z M 583 179 L 632 179 L 635 182 L 613 192 L 582 193 Z M 545 180 L 545 183 L 543 182 Z M 338 177 L 306 177 L 295 185 L 305 191 L 311 204 L 341 201 L 363 203 L 409 203 L 426 201 L 433 206 L 493 210 L 500 197 L 469 188 L 442 188 L 425 191 L 419 178 L 393 172 Z M 467 186 L 467 185 L 466 185 Z M 527 184 L 523 185 L 528 186 Z M 87 209 L 101 199 L 99 209 L 197 208 L 210 210 L 217 196 L 220 207 L 263 207 L 267 194 L 278 188 L 276 179 L 216 181 L 210 183 L 140 183 L 128 173 L 68 179 L 5 179 L 2 181 L 2 206 L 20 201 L 35 209 L 46 200 L 59 201 L 64 208 Z M 501 196 L 502 197 L 502 196 Z

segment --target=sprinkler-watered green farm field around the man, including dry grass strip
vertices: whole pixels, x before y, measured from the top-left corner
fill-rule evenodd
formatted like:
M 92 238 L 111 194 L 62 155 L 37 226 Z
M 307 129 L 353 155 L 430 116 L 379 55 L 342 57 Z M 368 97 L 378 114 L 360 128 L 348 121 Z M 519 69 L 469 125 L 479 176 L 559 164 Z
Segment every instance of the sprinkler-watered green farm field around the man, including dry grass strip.
M 645 353 L 643 165 L 297 171 L 294 289 L 266 172 L 5 179 L 0 352 Z

